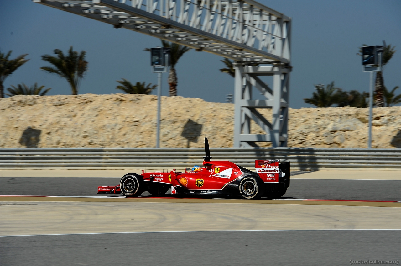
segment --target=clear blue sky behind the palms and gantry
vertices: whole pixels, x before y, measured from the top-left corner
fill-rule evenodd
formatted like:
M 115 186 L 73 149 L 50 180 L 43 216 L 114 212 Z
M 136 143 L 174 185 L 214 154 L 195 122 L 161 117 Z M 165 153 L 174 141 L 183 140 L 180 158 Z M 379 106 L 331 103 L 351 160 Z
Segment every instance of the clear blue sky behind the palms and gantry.
M 304 103 L 314 91 L 314 84 L 332 81 L 343 90 L 369 90 L 369 74 L 362 72 L 358 47 L 395 45 L 395 56 L 384 71 L 385 85 L 401 86 L 401 1 L 399 0 L 259 0 L 292 17 L 292 65 L 290 107 L 311 107 Z M 71 94 L 67 82 L 39 68 L 48 63 L 41 55 L 58 48 L 87 51 L 89 70 L 79 94 L 109 94 L 116 90 L 116 80 L 132 83 L 157 83 L 151 73 L 146 47 L 160 46 L 160 41 L 134 31 L 113 29 L 111 25 L 78 16 L 29 0 L 0 0 L 0 49 L 12 50 L 12 58 L 28 53 L 30 58 L 12 76 L 5 88 L 20 83 L 53 88 L 49 95 Z M 234 79 L 221 73 L 222 57 L 194 50 L 176 65 L 178 95 L 225 102 L 233 93 Z M 167 74 L 163 95 L 168 94 Z M 156 93 L 156 91 L 155 91 Z M 401 88 L 398 89 L 398 94 Z

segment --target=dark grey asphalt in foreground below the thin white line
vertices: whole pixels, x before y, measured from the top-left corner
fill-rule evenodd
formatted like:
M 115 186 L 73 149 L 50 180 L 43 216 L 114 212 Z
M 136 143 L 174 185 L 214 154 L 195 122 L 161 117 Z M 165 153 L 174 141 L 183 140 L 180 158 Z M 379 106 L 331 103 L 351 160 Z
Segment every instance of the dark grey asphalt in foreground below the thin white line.
M 0 237 L 1 265 L 352 265 L 400 260 L 401 231 L 236 231 Z

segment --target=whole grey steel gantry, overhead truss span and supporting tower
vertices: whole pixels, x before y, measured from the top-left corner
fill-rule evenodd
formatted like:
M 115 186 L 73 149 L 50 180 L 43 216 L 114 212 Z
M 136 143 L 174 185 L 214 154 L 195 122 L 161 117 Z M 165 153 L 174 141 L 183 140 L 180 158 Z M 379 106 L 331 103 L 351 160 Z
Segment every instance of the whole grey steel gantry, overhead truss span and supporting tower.
M 291 70 L 288 16 L 253 0 L 33 2 L 235 60 L 234 147 L 257 147 L 257 142 L 286 147 Z M 258 76 L 273 76 L 272 87 Z M 266 100 L 252 100 L 253 87 Z M 271 122 L 258 108 L 273 109 Z M 265 134 L 251 134 L 251 120 Z

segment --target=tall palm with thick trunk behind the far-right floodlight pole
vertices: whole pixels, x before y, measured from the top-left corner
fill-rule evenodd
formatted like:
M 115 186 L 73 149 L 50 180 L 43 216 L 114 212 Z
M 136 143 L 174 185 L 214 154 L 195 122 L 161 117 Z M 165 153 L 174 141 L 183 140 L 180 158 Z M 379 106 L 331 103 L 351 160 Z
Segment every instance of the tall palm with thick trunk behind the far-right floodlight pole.
M 363 44 L 362 46 L 367 46 Z M 383 53 L 382 53 L 382 67 L 381 71 L 376 72 L 376 81 L 375 81 L 375 106 L 383 107 L 384 106 L 384 80 L 383 80 L 383 70 L 385 69 L 385 65 L 389 63 L 390 59 L 393 57 L 396 50 L 395 46 L 391 46 L 391 44 L 386 45 L 386 42 L 383 41 Z M 362 55 L 362 47 L 359 47 L 359 51 Z

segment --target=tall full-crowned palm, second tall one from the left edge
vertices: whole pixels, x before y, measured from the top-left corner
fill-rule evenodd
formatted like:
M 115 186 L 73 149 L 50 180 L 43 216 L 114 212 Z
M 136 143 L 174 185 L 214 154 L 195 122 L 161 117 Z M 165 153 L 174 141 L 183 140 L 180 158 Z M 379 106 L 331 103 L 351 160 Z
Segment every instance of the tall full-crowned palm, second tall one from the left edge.
M 71 86 L 72 94 L 77 95 L 79 83 L 88 69 L 88 62 L 85 61 L 86 52 L 81 51 L 78 54 L 77 51 L 73 51 L 73 47 L 71 46 L 68 55 L 64 55 L 60 49 L 54 49 L 53 53 L 56 56 L 42 55 L 42 60 L 51 63 L 54 67 L 44 66 L 41 67 L 41 70 L 65 78 Z

